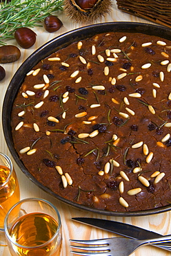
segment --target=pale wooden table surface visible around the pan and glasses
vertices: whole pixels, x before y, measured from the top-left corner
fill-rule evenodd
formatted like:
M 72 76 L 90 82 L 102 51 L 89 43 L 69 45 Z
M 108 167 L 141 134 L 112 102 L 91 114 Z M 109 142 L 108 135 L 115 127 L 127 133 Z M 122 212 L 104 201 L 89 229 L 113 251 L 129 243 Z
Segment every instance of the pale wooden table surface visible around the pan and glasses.
M 37 33 L 37 42 L 29 49 L 20 48 L 14 40 L 10 40 L 8 44 L 14 44 L 21 49 L 21 57 L 17 62 L 12 64 L 1 64 L 6 69 L 6 77 L 3 81 L 0 82 L 0 109 L 2 109 L 3 98 L 6 93 L 6 89 L 8 84 L 14 75 L 17 68 L 22 64 L 24 60 L 37 48 L 41 45 L 48 42 L 50 39 L 57 37 L 63 33 L 66 33 L 68 30 L 73 30 L 74 28 L 79 28 L 81 26 L 86 26 L 86 24 L 74 24 L 71 22 L 63 12 L 57 13 L 58 17 L 63 22 L 63 27 L 57 31 L 56 33 L 48 33 L 43 28 L 33 28 L 34 32 Z M 110 22 L 110 21 L 137 21 L 141 23 L 152 24 L 150 21 L 145 19 L 140 19 L 138 17 L 134 17 L 132 15 L 128 15 L 124 12 L 121 12 L 117 9 L 117 3 L 114 1 L 114 7 L 112 8 L 112 13 L 107 15 L 105 18 L 98 20 L 96 23 L 101 22 Z M 1 123 L 0 123 L 1 125 Z M 8 154 L 10 156 L 10 152 L 6 145 L 5 138 L 3 136 L 3 129 L 0 129 L 0 151 Z M 105 237 L 114 237 L 115 235 L 111 232 L 105 232 L 104 230 L 100 230 L 98 228 L 91 228 L 90 226 L 86 226 L 71 220 L 72 217 L 94 217 L 94 218 L 103 218 L 110 219 L 114 221 L 122 221 L 124 223 L 130 223 L 135 226 L 139 226 L 142 228 L 146 228 L 148 230 L 152 230 L 154 232 L 159 232 L 162 235 L 167 235 L 171 233 L 170 226 L 170 212 L 165 212 L 161 214 L 154 214 L 145 217 L 107 217 L 101 214 L 93 214 L 91 212 L 85 212 L 83 210 L 79 210 L 77 208 L 72 208 L 70 205 L 66 205 L 54 199 L 46 192 L 43 192 L 37 185 L 34 185 L 32 181 L 30 181 L 24 174 L 19 170 L 19 167 L 14 163 L 14 168 L 17 172 L 17 176 L 19 179 L 19 185 L 21 190 L 21 199 L 27 197 L 40 197 L 43 199 L 47 199 L 51 203 L 57 206 L 59 213 L 61 215 L 61 223 L 63 228 L 63 246 L 61 250 L 61 256 L 70 256 L 70 242 L 69 239 L 101 239 Z M 159 248 L 154 248 L 154 246 L 143 246 L 139 248 L 132 256 L 166 256 L 171 255 L 171 252 L 166 250 L 161 250 Z M 10 256 L 8 251 L 8 247 L 0 246 L 0 256 Z

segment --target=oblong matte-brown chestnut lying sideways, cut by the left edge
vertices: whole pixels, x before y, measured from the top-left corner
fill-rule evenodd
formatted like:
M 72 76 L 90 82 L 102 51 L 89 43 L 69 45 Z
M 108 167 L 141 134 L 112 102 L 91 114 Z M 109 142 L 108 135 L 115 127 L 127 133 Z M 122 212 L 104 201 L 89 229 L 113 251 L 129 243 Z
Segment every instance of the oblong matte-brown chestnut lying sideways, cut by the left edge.
M 16 62 L 21 56 L 17 46 L 6 45 L 0 47 L 0 63 Z

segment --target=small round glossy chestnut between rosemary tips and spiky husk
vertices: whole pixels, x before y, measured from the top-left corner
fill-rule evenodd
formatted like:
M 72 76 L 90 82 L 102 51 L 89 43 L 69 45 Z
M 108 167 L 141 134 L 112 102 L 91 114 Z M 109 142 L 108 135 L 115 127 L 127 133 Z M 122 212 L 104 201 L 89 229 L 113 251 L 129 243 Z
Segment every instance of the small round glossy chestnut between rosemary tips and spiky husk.
M 44 28 L 50 33 L 59 30 L 61 26 L 63 26 L 63 23 L 57 16 L 49 15 L 44 19 Z

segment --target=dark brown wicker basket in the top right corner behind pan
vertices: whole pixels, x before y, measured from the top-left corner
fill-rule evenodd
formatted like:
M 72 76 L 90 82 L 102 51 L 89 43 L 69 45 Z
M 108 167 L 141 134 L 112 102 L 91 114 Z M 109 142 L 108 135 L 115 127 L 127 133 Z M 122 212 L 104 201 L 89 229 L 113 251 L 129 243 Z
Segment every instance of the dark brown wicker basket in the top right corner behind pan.
M 119 10 L 171 28 L 171 0 L 117 0 Z

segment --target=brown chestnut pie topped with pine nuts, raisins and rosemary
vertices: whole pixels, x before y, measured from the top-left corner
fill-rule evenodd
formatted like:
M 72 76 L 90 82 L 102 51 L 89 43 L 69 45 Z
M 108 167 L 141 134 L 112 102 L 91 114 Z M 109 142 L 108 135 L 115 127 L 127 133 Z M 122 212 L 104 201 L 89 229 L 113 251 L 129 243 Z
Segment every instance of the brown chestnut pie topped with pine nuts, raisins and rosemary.
M 41 60 L 12 109 L 28 172 L 64 199 L 130 212 L 170 204 L 171 42 L 103 33 Z

